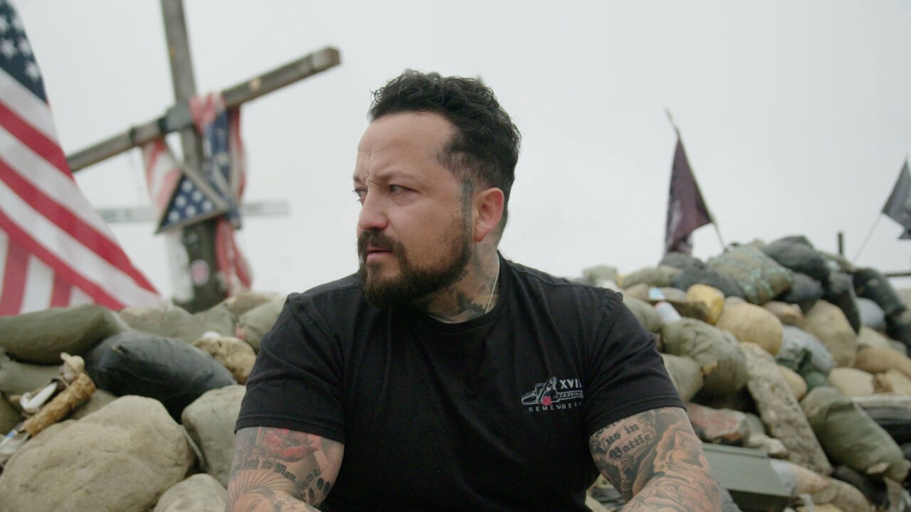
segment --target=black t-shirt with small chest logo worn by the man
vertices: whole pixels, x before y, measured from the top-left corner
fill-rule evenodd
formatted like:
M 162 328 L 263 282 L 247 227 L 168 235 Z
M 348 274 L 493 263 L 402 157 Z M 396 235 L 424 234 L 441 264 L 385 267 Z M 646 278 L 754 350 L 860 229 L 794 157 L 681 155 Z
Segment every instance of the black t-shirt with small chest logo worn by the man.
M 465 323 L 375 308 L 356 275 L 290 295 L 237 428 L 343 443 L 323 510 L 588 510 L 589 436 L 681 399 L 618 293 L 500 269 Z

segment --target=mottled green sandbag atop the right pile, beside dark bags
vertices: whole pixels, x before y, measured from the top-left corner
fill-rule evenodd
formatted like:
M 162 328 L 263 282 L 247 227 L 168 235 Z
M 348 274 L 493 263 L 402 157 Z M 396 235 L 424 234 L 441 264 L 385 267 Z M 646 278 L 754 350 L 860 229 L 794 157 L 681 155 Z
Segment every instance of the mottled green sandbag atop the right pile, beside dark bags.
M 791 287 L 793 272 L 750 245 L 728 249 L 708 261 L 708 267 L 728 276 L 743 291 L 743 298 L 762 305 Z

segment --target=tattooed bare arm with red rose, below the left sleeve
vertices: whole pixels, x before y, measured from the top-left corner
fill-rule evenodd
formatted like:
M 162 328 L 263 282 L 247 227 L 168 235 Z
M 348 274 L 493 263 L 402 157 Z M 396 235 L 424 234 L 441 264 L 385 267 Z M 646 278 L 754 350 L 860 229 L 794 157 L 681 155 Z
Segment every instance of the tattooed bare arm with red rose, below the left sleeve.
M 237 432 L 226 512 L 317 510 L 332 490 L 344 446 L 286 428 Z

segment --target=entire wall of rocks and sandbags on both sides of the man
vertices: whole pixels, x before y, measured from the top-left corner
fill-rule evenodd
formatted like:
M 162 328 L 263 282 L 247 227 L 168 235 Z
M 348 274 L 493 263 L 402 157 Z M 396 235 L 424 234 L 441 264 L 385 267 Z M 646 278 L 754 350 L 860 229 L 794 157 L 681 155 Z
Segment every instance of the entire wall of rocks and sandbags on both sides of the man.
M 701 439 L 773 457 L 795 510 L 911 504 L 911 292 L 803 237 L 583 273 L 623 292 L 656 335 Z M 24 432 L 22 396 L 57 382 L 61 354 L 80 356 L 97 387 L 56 424 L 0 444 L 0 509 L 222 510 L 242 384 L 283 302 L 248 292 L 195 314 L 0 317 L 0 430 Z

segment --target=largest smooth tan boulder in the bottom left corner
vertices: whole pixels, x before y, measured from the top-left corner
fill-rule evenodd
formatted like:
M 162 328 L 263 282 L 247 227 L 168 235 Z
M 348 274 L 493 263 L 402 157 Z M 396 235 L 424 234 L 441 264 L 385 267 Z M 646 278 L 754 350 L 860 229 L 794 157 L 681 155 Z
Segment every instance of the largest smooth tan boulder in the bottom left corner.
M 124 396 L 20 448 L 0 475 L 0 503 L 16 512 L 147 512 L 193 458 L 158 401 Z

